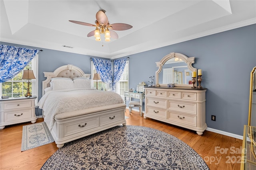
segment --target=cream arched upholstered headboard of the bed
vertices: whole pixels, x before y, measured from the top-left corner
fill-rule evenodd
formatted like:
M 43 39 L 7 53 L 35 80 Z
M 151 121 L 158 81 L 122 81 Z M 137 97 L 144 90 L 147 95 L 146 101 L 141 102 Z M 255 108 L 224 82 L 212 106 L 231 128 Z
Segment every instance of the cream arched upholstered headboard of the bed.
M 60 66 L 54 72 L 44 72 L 46 80 L 42 82 L 42 96 L 44 95 L 44 89 L 50 87 L 50 81 L 53 77 L 87 77 L 90 78 L 91 74 L 84 74 L 83 70 L 72 64 Z

